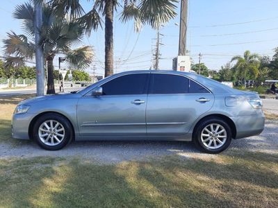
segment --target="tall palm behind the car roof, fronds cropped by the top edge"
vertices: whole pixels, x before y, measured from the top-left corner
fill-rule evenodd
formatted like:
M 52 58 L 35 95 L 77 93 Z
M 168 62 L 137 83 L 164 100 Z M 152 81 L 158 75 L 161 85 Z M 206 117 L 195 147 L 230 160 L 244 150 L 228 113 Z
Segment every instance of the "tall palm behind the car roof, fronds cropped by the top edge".
M 42 1 L 42 0 L 37 0 Z M 92 30 L 101 26 L 101 16 L 105 17 L 105 76 L 113 74 L 113 19 L 115 10 L 122 8 L 120 20 L 125 23 L 131 19 L 135 22 L 136 31 L 142 25 L 149 24 L 158 29 L 161 24 L 170 21 L 177 13 L 175 9 L 178 0 L 90 0 L 92 9 L 85 13 L 79 0 L 63 1 L 49 0 L 52 8 L 58 13 L 70 14 L 70 17 L 79 17 L 86 26 L 90 35 Z M 85 14 L 84 14 L 85 13 Z

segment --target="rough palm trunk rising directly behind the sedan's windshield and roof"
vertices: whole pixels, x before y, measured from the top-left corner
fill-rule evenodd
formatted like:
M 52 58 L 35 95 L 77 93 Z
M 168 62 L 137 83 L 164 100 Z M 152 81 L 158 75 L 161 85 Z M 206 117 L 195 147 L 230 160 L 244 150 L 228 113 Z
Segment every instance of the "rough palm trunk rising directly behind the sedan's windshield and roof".
M 105 77 L 113 74 L 114 0 L 105 0 Z

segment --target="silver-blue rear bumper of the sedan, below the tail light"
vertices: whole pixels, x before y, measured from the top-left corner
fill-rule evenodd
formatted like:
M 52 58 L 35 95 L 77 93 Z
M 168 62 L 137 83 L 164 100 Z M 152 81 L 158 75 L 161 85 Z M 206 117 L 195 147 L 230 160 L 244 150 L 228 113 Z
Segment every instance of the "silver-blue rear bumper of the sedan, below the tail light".
M 236 138 L 251 137 L 259 135 L 265 127 L 265 116 L 263 113 L 257 113 L 251 116 L 231 117 L 236 125 Z

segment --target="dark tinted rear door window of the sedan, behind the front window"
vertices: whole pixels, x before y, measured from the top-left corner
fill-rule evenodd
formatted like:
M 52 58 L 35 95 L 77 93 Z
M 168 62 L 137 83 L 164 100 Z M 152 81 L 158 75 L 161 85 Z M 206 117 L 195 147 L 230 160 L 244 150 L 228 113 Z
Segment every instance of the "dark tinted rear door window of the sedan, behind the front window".
M 180 94 L 187 92 L 188 78 L 171 74 L 152 74 L 150 94 Z

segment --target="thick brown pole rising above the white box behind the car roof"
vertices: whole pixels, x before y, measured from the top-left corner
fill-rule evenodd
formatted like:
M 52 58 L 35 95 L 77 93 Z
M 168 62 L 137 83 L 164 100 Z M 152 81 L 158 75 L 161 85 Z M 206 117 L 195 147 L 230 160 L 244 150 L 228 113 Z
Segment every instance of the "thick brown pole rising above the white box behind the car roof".
M 179 24 L 179 55 L 186 55 L 188 0 L 181 0 L 181 19 Z

